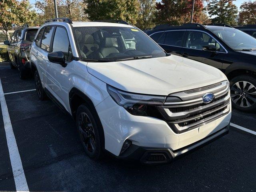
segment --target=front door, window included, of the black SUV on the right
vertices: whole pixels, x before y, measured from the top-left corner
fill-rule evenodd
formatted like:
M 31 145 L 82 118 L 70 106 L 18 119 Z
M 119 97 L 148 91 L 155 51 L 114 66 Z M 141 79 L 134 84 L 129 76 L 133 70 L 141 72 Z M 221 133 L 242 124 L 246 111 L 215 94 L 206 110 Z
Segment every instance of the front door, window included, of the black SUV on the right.
M 216 46 L 217 51 L 202 50 L 203 46 L 212 44 Z M 224 47 L 210 34 L 200 30 L 188 30 L 182 48 L 182 56 L 196 60 L 218 69 L 222 69 L 224 54 L 227 51 Z

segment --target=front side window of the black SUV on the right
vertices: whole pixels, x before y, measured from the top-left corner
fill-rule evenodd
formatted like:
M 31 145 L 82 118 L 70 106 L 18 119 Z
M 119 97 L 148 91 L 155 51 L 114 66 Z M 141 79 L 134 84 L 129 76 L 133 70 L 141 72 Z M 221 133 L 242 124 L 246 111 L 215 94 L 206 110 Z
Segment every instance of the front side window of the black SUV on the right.
M 186 40 L 186 48 L 202 50 L 203 46 L 206 45 L 216 46 L 216 50 L 224 52 L 224 49 L 214 38 L 201 31 L 189 31 L 188 38 Z

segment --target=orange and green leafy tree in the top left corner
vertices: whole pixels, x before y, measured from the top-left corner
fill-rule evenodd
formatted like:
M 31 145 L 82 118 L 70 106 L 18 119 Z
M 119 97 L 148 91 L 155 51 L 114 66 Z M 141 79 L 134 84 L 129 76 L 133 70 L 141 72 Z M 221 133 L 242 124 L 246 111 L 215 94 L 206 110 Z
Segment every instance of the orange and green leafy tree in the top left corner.
M 23 25 L 32 24 L 36 12 L 28 0 L 1 0 L 0 1 L 0 29 L 10 40 L 9 30 L 12 24 Z

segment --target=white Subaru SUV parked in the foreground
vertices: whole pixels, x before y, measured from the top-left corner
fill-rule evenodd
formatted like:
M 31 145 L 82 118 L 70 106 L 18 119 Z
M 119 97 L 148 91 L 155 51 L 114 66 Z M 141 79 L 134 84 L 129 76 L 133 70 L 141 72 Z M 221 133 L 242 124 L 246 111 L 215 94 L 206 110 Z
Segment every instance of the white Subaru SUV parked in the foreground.
M 38 97 L 76 121 L 86 154 L 168 163 L 228 133 L 229 82 L 124 21 L 48 20 L 30 50 Z

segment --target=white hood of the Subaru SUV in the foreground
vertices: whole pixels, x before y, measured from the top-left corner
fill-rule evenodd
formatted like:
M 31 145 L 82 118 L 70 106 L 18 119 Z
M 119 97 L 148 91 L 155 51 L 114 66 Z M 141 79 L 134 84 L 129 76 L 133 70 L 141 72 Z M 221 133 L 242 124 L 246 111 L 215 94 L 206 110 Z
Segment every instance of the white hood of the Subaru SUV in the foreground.
M 120 90 L 164 96 L 227 80 L 212 66 L 175 55 L 122 62 L 90 62 L 87 70 Z

